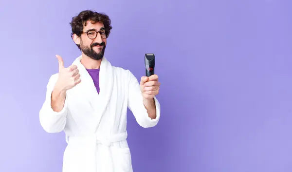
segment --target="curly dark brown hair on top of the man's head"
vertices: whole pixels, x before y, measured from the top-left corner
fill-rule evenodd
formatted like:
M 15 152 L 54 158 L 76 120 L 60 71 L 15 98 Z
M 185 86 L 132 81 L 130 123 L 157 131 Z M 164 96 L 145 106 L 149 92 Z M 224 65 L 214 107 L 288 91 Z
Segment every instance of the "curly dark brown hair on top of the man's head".
M 81 36 L 83 32 L 83 26 L 86 26 L 86 22 L 88 20 L 91 20 L 92 24 L 102 22 L 105 26 L 106 36 L 107 38 L 109 37 L 110 30 L 112 29 L 109 16 L 105 13 L 98 13 L 93 10 L 85 10 L 81 11 L 77 16 L 72 18 L 72 21 L 70 22 L 72 28 L 71 38 L 73 38 L 74 34 L 76 34 L 78 37 Z M 77 45 L 77 47 L 79 50 L 81 50 L 80 45 Z

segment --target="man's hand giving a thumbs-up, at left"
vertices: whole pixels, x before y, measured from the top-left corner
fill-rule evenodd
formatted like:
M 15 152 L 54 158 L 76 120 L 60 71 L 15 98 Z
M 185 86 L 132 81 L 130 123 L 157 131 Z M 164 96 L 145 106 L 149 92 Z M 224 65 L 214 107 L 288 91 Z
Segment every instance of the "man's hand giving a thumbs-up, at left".
M 59 55 L 56 55 L 56 57 L 59 62 L 59 74 L 55 87 L 66 92 L 81 82 L 79 70 L 76 65 L 65 68 L 63 58 Z

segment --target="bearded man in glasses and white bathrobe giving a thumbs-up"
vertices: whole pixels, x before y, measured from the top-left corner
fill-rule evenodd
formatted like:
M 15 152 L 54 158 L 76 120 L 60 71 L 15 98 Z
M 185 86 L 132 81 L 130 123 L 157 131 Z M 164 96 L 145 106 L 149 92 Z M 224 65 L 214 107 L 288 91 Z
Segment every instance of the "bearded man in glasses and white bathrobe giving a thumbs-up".
M 112 28 L 107 15 L 82 11 L 70 24 L 81 56 L 65 68 L 56 55 L 59 72 L 49 79 L 40 124 L 66 134 L 63 172 L 132 172 L 127 108 L 142 127 L 157 125 L 158 76 L 143 76 L 139 84 L 129 70 L 111 66 L 104 57 Z

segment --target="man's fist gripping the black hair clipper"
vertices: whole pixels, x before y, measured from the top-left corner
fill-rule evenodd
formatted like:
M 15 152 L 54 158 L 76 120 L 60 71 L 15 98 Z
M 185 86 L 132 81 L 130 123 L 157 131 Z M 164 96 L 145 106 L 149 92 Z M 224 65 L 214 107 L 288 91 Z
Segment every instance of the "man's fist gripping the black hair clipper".
M 142 76 L 140 81 L 140 89 L 145 99 L 152 99 L 159 93 L 160 82 L 158 81 L 158 76 Z

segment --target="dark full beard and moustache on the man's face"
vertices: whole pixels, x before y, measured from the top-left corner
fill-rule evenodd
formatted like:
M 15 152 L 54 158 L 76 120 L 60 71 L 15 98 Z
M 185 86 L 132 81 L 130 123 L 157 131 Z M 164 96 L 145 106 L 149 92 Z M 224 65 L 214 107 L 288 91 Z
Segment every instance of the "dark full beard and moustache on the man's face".
M 99 53 L 96 53 L 94 50 L 93 50 L 93 47 L 97 46 L 97 45 L 100 45 L 100 46 L 103 46 L 102 50 L 99 52 Z M 106 49 L 106 44 L 105 42 L 102 42 L 102 43 L 92 43 L 90 45 L 90 47 L 86 47 L 83 45 L 82 41 L 80 43 L 80 49 L 81 51 L 88 57 L 94 59 L 94 60 L 100 60 L 104 57 L 104 54 L 105 54 L 105 49 Z

